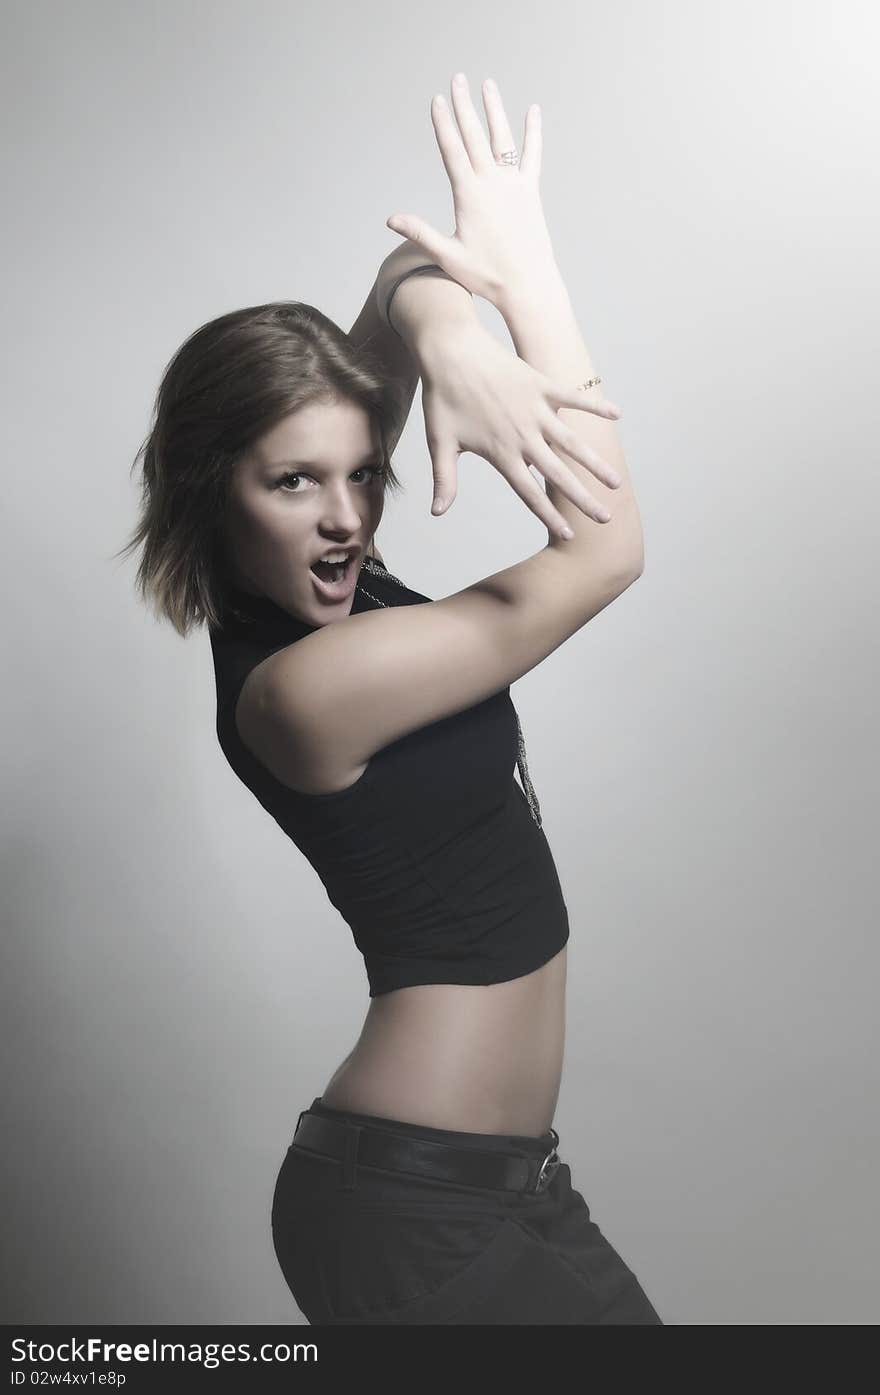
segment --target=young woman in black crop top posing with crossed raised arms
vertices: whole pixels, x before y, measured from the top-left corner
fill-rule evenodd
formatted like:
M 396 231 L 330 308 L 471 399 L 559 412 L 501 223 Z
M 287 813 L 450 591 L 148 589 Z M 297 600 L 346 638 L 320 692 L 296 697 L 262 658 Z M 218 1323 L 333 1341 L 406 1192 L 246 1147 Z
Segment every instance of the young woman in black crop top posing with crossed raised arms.
M 223 752 L 364 956 L 363 1031 L 275 1187 L 307 1321 L 658 1324 L 552 1129 L 569 922 L 509 695 L 640 575 L 640 518 L 541 211 L 538 109 L 519 160 L 483 96 L 488 140 L 460 75 L 431 107 L 455 236 L 389 219 L 406 241 L 349 335 L 278 303 L 177 352 L 128 545 L 142 594 L 208 625 Z M 434 511 L 471 451 L 549 533 L 442 600 L 374 544 L 420 377 Z

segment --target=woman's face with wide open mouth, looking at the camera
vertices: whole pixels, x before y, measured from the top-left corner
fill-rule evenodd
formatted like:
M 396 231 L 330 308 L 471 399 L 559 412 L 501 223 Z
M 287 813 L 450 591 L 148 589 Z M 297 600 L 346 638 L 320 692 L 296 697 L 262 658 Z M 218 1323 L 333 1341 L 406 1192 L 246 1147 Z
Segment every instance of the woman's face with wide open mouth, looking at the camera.
M 382 518 L 381 465 L 378 432 L 360 403 L 291 412 L 234 467 L 226 516 L 233 580 L 310 625 L 349 615 Z M 319 558 L 343 551 L 342 582 L 325 566 L 312 571 Z

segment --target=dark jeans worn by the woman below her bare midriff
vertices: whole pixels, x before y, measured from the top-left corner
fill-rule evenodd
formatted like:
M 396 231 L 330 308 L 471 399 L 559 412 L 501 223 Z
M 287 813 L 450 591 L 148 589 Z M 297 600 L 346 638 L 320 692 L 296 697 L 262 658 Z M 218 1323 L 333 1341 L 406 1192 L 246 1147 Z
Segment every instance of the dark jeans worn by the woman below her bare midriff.
M 543 1158 L 547 1137 L 310 1113 L 456 1147 Z M 559 1151 L 559 1148 L 558 1148 Z M 561 1156 L 561 1154 L 559 1154 Z M 272 1202 L 282 1272 L 310 1324 L 660 1324 L 562 1162 L 540 1193 L 354 1169 L 290 1145 Z

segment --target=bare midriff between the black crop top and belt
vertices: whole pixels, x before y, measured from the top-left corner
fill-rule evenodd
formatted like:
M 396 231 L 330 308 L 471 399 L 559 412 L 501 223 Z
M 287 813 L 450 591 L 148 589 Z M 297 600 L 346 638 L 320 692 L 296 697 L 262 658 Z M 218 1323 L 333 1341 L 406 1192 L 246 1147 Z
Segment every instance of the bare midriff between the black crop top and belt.
M 431 1129 L 547 1133 L 562 1080 L 566 965 L 568 946 L 506 983 L 420 983 L 372 997 L 322 1102 Z

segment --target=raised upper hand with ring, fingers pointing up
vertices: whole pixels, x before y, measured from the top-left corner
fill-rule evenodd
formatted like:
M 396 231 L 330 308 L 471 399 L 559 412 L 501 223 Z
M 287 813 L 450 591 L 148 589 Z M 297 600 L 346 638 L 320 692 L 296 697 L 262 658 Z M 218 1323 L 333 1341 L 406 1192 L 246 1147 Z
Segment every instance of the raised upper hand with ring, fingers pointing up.
M 498 163 L 501 155 L 516 149 L 516 142 L 491 78 L 483 84 L 490 140 L 463 73 L 452 81 L 452 103 L 455 120 L 445 99 L 435 96 L 431 120 L 452 184 L 455 233 L 445 237 L 411 213 L 392 215 L 388 227 L 418 243 L 449 276 L 501 310 L 499 301 L 510 286 L 526 278 L 541 282 L 558 276 L 538 193 L 541 110 L 529 107 L 516 166 Z

